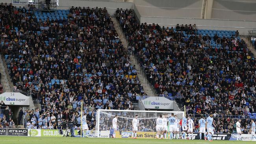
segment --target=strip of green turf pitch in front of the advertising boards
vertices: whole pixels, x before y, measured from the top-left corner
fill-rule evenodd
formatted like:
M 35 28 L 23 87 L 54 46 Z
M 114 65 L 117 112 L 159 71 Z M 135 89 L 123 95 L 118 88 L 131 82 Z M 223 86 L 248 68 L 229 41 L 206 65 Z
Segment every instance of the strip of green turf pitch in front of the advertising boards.
M 1 136 L 0 144 L 255 144 L 255 141 Z

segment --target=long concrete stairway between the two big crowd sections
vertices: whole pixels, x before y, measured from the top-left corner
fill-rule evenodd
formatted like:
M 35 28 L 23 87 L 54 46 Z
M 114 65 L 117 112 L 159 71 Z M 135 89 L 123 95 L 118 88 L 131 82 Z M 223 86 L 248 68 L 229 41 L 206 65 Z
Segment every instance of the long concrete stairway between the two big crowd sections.
M 119 22 L 117 21 L 117 19 L 115 17 L 112 18 L 112 21 L 115 26 L 115 30 L 117 31 L 117 33 L 119 35 L 119 39 L 122 42 L 122 44 L 124 45 L 124 48 L 126 49 L 126 52 L 127 52 L 128 41 L 126 40 L 126 37 L 125 37 L 124 33 L 122 32 L 122 28 L 120 27 Z M 144 88 L 144 92 L 147 95 L 151 95 L 151 96 L 156 95 L 154 87 L 152 87 L 152 85 L 148 82 L 144 71 L 141 69 L 141 66 L 139 65 L 139 61 L 137 60 L 137 58 L 134 55 L 130 55 L 130 64 L 135 65 L 135 68 L 137 70 L 137 76 Z

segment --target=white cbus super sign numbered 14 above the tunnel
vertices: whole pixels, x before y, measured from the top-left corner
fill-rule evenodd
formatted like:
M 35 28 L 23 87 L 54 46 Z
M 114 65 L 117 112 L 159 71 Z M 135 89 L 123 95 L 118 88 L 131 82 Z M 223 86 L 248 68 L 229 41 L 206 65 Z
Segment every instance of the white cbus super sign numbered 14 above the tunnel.
M 4 92 L 0 94 L 0 101 L 6 105 L 30 105 L 30 97 L 20 92 Z

